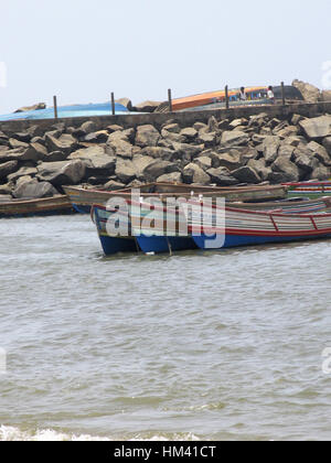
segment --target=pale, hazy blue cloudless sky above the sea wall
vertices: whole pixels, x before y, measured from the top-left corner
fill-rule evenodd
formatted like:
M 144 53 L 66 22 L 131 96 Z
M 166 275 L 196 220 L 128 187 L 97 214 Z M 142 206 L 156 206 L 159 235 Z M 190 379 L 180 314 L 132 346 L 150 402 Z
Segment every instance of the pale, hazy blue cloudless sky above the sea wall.
M 330 0 L 0 0 L 0 114 L 295 78 L 331 88 Z

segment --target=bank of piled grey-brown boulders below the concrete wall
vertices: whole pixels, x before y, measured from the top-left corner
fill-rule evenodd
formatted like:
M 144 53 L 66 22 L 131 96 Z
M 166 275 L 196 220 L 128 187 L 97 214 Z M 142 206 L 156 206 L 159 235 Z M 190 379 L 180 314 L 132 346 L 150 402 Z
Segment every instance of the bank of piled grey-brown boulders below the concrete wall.
M 0 130 L 0 201 L 63 193 L 64 185 L 116 190 L 147 182 L 232 186 L 331 176 L 331 115 L 286 120 L 196 121 L 181 127 L 32 126 Z

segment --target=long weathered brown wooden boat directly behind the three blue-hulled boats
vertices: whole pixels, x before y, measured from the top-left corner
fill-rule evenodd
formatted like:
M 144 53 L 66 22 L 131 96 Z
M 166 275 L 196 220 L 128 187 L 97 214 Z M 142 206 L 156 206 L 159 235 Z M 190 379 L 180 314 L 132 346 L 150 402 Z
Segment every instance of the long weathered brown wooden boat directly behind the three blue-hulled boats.
M 106 204 L 111 197 L 131 200 L 132 194 L 132 189 L 107 192 L 64 186 L 64 191 L 75 209 L 85 214 L 90 212 L 93 204 Z M 148 197 L 158 197 L 167 201 L 168 197 L 179 196 L 189 198 L 194 194 L 201 194 L 203 197 L 225 197 L 228 202 L 276 201 L 286 197 L 287 187 L 282 185 L 212 187 L 173 183 L 153 183 L 139 187 L 139 197 L 145 200 Z

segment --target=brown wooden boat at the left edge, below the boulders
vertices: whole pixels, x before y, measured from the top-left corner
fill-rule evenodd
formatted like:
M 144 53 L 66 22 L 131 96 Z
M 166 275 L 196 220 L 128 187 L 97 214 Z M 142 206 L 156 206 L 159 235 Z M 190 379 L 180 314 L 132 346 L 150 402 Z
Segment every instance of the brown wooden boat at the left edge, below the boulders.
M 29 217 L 35 215 L 73 214 L 68 197 L 57 195 L 41 200 L 12 200 L 0 203 L 0 217 Z

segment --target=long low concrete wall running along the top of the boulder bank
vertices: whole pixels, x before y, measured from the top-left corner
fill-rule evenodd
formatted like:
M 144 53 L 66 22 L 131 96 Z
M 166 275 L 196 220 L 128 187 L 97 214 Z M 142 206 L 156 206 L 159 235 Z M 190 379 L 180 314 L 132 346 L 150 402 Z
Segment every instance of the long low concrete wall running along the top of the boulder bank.
M 4 132 L 20 132 L 31 126 L 40 126 L 45 131 L 57 122 L 64 122 L 66 127 L 79 127 L 87 120 L 93 120 L 99 128 L 117 123 L 119 126 L 137 127 L 146 123 L 151 123 L 156 127 L 161 126 L 169 119 L 173 119 L 182 127 L 190 127 L 196 121 L 206 122 L 211 116 L 215 116 L 217 120 L 221 119 L 236 119 L 242 117 L 249 117 L 260 112 L 266 112 L 271 118 L 286 119 L 293 114 L 305 117 L 317 117 L 322 114 L 331 114 L 331 101 L 318 104 L 296 104 L 290 106 L 247 106 L 234 107 L 229 109 L 204 110 L 204 111 L 188 111 L 188 112 L 166 112 L 166 114 L 137 114 L 127 116 L 102 116 L 102 117 L 79 117 L 79 118 L 64 118 L 64 119 L 44 119 L 44 120 L 18 120 L 0 122 L 0 130 Z

